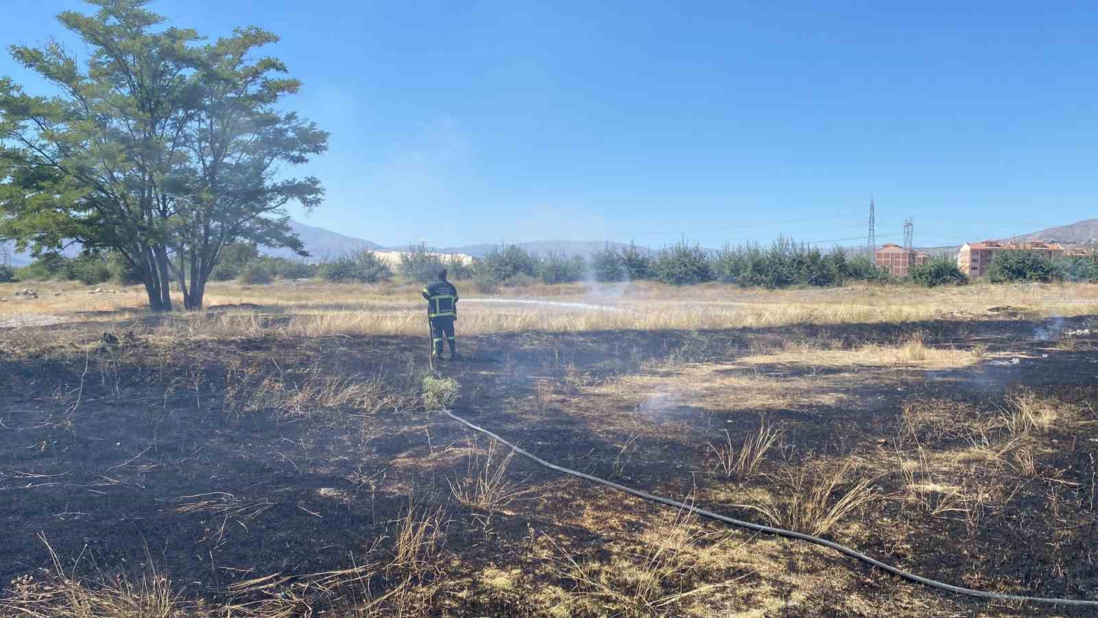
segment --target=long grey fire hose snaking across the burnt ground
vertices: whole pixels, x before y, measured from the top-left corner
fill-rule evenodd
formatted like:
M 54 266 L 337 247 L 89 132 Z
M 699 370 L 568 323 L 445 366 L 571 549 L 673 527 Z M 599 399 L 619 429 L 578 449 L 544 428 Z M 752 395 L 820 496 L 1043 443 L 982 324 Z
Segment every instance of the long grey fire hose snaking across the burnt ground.
M 629 494 L 629 495 L 632 495 L 632 496 L 637 496 L 638 498 L 643 498 L 646 500 L 651 500 L 653 503 L 659 503 L 661 505 L 666 505 L 666 506 L 670 506 L 670 507 L 675 507 L 675 508 L 684 509 L 684 510 L 687 510 L 690 512 L 697 514 L 697 515 L 699 515 L 702 517 L 705 517 L 707 519 L 713 519 L 715 521 L 721 521 L 724 523 L 728 523 L 730 526 L 736 526 L 738 528 L 746 528 L 748 530 L 754 530 L 757 532 L 762 532 L 764 534 L 773 534 L 773 536 L 776 536 L 776 537 L 784 537 L 786 539 L 795 539 L 795 540 L 798 540 L 798 541 L 806 541 L 808 543 L 813 543 L 813 544 L 816 544 L 816 545 L 822 545 L 825 548 L 832 549 L 832 550 L 834 550 L 834 551 L 837 551 L 837 552 L 839 552 L 839 553 L 841 553 L 843 555 L 847 555 L 847 556 L 853 558 L 855 560 L 859 560 L 861 562 L 864 562 L 865 564 L 869 564 L 871 566 L 876 566 L 877 569 L 881 569 L 882 571 L 885 571 L 885 572 L 890 573 L 890 574 L 893 574 L 893 575 L 895 575 L 895 576 L 897 576 L 897 577 L 899 577 L 901 580 L 907 580 L 908 582 L 912 582 L 915 584 L 920 584 L 920 585 L 923 585 L 923 586 L 928 586 L 928 587 L 931 587 L 931 588 L 937 588 L 937 589 L 940 589 L 940 591 L 946 591 L 946 592 L 951 592 L 951 593 L 959 594 L 959 595 L 966 595 L 966 596 L 973 596 L 973 597 L 979 597 L 979 598 L 987 598 L 987 599 L 993 599 L 993 600 L 1006 600 L 1006 602 L 1017 602 L 1017 603 L 1034 603 L 1034 604 L 1051 604 L 1051 605 L 1068 605 L 1068 606 L 1075 606 L 1075 607 L 1090 607 L 1090 608 L 1098 609 L 1098 600 L 1084 600 L 1084 599 L 1069 599 L 1069 598 L 1049 598 L 1049 597 L 1033 597 L 1033 596 L 1023 596 L 1023 595 L 1008 595 L 1008 594 L 1001 594 L 1001 593 L 989 593 L 989 592 L 986 592 L 986 591 L 977 591 L 977 589 L 973 589 L 973 588 L 965 588 L 965 587 L 962 587 L 962 586 L 954 586 L 952 584 L 945 584 L 943 582 L 937 582 L 934 580 L 928 580 L 927 577 L 922 577 L 920 575 L 916 575 L 915 573 L 909 573 L 909 572 L 904 571 L 903 569 L 899 569 L 897 566 L 893 566 L 890 564 L 885 564 L 884 562 L 881 562 L 879 560 L 870 558 L 870 556 L 865 555 L 864 553 L 862 553 L 862 552 L 860 552 L 858 550 L 852 550 L 852 549 L 850 549 L 848 547 L 840 545 L 839 543 L 836 543 L 833 541 L 828 541 L 827 539 L 821 539 L 819 537 L 813 537 L 811 534 L 805 534 L 804 532 L 796 532 L 794 530 L 785 530 L 785 529 L 782 529 L 782 528 L 772 528 L 770 526 L 763 526 L 761 523 L 752 523 L 750 521 L 743 521 L 743 520 L 740 520 L 740 519 L 733 519 L 731 517 L 727 517 L 727 516 L 724 516 L 724 515 L 720 515 L 720 514 L 717 514 L 717 512 L 713 512 L 712 510 L 706 510 L 704 508 L 698 508 L 698 507 L 695 507 L 693 505 L 687 505 L 685 503 L 681 503 L 679 500 L 672 500 L 670 498 L 663 498 L 663 497 L 657 496 L 654 494 L 649 494 L 648 492 L 642 492 L 640 489 L 632 489 L 630 487 L 626 487 L 625 485 L 618 485 L 617 483 L 612 483 L 612 482 L 606 481 L 604 478 L 598 478 L 597 476 L 592 476 L 590 474 L 584 474 L 584 473 L 575 471 L 575 470 L 571 470 L 571 468 L 567 468 L 567 467 L 562 467 L 562 466 L 549 463 L 549 462 L 542 460 L 541 457 L 539 457 L 537 455 L 534 455 L 531 453 L 528 453 L 528 452 L 524 451 L 523 449 L 519 449 L 518 446 L 512 444 L 511 442 L 504 440 L 503 438 L 500 438 L 495 433 L 492 433 L 491 431 L 489 431 L 489 430 L 486 430 L 486 429 L 484 429 L 482 427 L 475 426 L 475 424 L 467 421 L 466 419 L 463 419 L 463 418 L 455 415 L 450 410 L 441 410 L 441 411 L 446 412 L 446 415 L 449 416 L 451 419 L 460 422 L 461 424 L 464 424 L 469 429 L 472 429 L 474 431 L 479 431 L 479 432 L 488 435 L 492 440 L 495 440 L 496 442 L 500 442 L 501 444 L 504 444 L 505 446 L 509 448 L 512 451 L 518 453 L 519 455 L 523 455 L 524 457 L 526 457 L 526 459 L 528 459 L 528 460 L 530 460 L 530 461 L 533 461 L 533 462 L 535 462 L 537 464 L 540 464 L 540 465 L 542 465 L 545 467 L 548 467 L 549 470 L 552 470 L 552 471 L 556 471 L 556 472 L 560 472 L 562 474 L 568 474 L 568 475 L 571 475 L 571 476 L 575 476 L 575 477 L 582 478 L 584 481 L 590 481 L 590 482 L 596 483 L 598 485 L 604 485 L 606 487 L 609 487 L 610 489 L 616 489 L 618 492 L 624 492 L 626 494 Z

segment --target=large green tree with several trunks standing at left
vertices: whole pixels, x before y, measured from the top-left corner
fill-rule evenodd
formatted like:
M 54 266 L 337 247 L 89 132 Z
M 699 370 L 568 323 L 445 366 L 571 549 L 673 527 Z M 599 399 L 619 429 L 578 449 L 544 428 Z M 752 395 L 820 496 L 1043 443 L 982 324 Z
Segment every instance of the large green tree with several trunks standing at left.
M 0 238 L 35 253 L 116 250 L 158 310 L 172 280 L 200 308 L 228 243 L 304 254 L 284 207 L 314 208 L 323 188 L 282 173 L 323 153 L 327 133 L 277 109 L 300 86 L 254 57 L 277 37 L 247 27 L 204 43 L 147 0 L 89 2 L 94 14 L 58 15 L 92 49 L 83 65 L 58 43 L 11 47 L 56 93 L 0 79 Z

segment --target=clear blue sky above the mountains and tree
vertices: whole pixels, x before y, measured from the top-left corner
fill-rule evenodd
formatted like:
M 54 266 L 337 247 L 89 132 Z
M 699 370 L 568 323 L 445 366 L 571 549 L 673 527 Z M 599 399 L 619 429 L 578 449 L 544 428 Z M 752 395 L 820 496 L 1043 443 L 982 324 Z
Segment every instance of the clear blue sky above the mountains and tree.
M 86 10 L 4 4 L 4 44 L 67 40 L 53 15 Z M 853 245 L 871 196 L 878 240 L 911 217 L 917 245 L 1098 217 L 1093 5 L 748 4 L 150 8 L 282 37 L 270 53 L 304 82 L 290 107 L 332 132 L 299 172 L 327 199 L 293 214 L 383 244 Z M 0 75 L 38 87 L 7 56 Z

